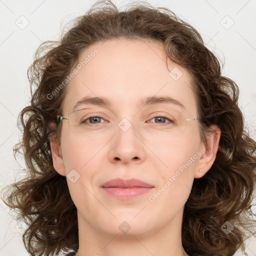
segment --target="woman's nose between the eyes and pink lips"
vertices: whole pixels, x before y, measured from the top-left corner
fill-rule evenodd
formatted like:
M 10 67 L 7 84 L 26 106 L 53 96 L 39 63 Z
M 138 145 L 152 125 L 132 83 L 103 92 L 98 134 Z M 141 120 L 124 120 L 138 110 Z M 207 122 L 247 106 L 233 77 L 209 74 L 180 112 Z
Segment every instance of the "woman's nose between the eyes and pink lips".
M 130 118 L 131 119 L 131 118 Z M 123 118 L 111 139 L 109 159 L 112 162 L 139 163 L 145 158 L 145 144 L 137 126 L 128 118 Z

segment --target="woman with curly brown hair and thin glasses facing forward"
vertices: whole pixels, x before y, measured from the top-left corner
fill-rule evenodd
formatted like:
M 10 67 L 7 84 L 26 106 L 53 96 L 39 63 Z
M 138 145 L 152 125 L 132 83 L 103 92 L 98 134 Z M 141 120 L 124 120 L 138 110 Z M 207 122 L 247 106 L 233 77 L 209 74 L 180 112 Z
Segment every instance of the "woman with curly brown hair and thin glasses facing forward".
M 46 51 L 46 52 L 45 52 Z M 166 8 L 96 2 L 28 69 L 27 177 L 6 203 L 31 255 L 233 255 L 255 220 L 238 87 Z

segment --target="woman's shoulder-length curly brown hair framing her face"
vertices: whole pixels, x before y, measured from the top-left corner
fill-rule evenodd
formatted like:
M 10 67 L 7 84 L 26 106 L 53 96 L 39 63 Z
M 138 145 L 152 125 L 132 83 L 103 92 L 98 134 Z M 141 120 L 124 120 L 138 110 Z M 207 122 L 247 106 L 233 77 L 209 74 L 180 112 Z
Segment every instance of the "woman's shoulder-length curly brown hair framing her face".
M 61 134 L 57 116 L 67 87 L 62 81 L 77 65 L 79 54 L 94 42 L 119 37 L 162 42 L 167 56 L 192 75 L 202 141 L 211 124 L 221 130 L 215 161 L 203 177 L 194 179 L 184 205 L 184 250 L 193 256 L 228 256 L 245 249 L 255 222 L 256 142 L 238 107 L 237 84 L 221 75 L 219 60 L 200 34 L 169 9 L 147 2 L 119 11 L 111 1 L 97 1 L 72 22 L 59 41 L 45 41 L 37 48 L 27 70 L 31 103 L 20 112 L 22 140 L 13 149 L 14 156 L 23 151 L 26 178 L 5 187 L 3 197 L 28 226 L 23 234 L 27 251 L 54 255 L 78 248 L 76 207 L 66 177 L 53 168 L 49 135 Z M 220 228 L 225 221 L 234 226 L 229 234 Z

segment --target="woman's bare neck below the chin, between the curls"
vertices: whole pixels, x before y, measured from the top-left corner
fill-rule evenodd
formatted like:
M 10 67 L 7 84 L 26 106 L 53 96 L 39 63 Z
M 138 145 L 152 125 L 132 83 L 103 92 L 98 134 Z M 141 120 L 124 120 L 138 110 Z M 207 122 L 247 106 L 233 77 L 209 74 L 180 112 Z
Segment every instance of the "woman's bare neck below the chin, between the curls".
M 90 225 L 77 211 L 79 249 L 76 256 L 188 256 L 181 244 L 182 212 L 157 231 L 146 234 L 106 233 Z

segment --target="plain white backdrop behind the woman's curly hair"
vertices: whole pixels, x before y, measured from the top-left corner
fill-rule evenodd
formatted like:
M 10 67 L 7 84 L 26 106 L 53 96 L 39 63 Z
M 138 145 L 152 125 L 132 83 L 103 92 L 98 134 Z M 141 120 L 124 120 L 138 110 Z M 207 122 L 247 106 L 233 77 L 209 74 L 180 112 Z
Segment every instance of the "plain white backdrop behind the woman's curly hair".
M 42 41 L 56 40 L 67 21 L 84 14 L 94 0 L 0 0 L 0 187 L 12 182 L 19 165 L 12 153 L 20 135 L 16 126 L 19 111 L 28 104 L 26 71 Z M 113 0 L 117 7 L 130 1 Z M 239 106 L 256 139 L 256 0 L 148 0 L 164 6 L 193 25 L 206 46 L 219 58 L 222 74 L 240 89 Z M 20 226 L 0 201 L 0 255 L 28 255 L 21 240 Z M 256 237 L 247 241 L 246 252 L 256 255 Z M 155 255 L 156 256 L 156 255 Z

